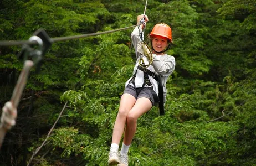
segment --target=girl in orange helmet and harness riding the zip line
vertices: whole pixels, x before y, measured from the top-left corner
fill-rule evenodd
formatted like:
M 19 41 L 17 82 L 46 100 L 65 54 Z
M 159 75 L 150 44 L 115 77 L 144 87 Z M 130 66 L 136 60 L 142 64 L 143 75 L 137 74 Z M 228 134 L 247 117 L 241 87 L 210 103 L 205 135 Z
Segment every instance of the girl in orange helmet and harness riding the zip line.
M 141 18 L 144 21 L 139 28 L 145 29 L 146 22 L 149 19 L 145 14 L 138 15 L 137 24 L 139 24 Z M 121 96 L 119 112 L 112 134 L 109 165 L 128 165 L 128 150 L 136 132 L 137 120 L 148 112 L 153 105 L 160 106 L 161 101 L 162 103 L 166 102 L 166 81 L 175 69 L 175 58 L 165 54 L 165 51 L 170 48 L 172 43 L 171 28 L 162 23 L 156 24 L 150 33 L 153 61 L 146 68 L 141 67 L 139 63 L 140 55 L 143 54 L 143 51 L 141 49 L 139 28 L 136 27 L 131 33 L 137 61 L 134 67 L 134 75 L 126 82 L 124 93 Z M 145 64 L 149 64 L 145 56 L 143 60 Z M 159 87 L 162 88 L 160 89 Z M 161 92 L 162 95 L 160 95 Z M 119 143 L 123 133 L 124 140 L 119 153 Z

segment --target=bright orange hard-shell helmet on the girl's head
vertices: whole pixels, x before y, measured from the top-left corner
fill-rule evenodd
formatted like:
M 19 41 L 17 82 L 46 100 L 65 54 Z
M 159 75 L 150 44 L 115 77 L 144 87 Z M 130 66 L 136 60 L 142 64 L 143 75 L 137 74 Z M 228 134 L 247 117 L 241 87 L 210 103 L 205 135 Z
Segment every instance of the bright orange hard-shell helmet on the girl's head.
M 152 35 L 158 35 L 161 37 L 166 37 L 172 41 L 172 29 L 167 24 L 156 24 L 150 33 L 150 37 Z

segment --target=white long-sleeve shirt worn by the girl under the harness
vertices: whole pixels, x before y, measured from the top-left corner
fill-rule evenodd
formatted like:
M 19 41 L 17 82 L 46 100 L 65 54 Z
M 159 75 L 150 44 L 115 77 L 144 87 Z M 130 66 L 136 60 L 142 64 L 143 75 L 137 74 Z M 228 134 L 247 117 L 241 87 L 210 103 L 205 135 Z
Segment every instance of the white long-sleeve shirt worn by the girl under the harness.
M 137 45 L 140 42 L 139 34 L 140 34 L 139 28 L 135 27 L 135 29 L 131 33 L 131 40 L 132 40 L 132 44 L 134 45 L 136 58 L 137 58 L 136 64 L 134 66 L 134 71 L 133 71 L 133 74 L 135 74 L 137 71 L 135 82 L 134 82 L 136 87 L 142 87 L 144 83 L 144 72 L 141 70 L 137 70 L 139 66 L 139 60 L 141 58 L 137 51 L 137 48 L 138 48 Z M 145 65 L 149 64 L 145 56 L 143 57 L 143 60 Z M 175 58 L 167 54 L 164 54 L 164 55 L 153 54 L 153 62 L 149 67 L 147 67 L 147 69 L 152 72 L 155 72 L 160 77 L 163 84 L 163 96 L 164 96 L 163 102 L 166 102 L 166 92 L 167 92 L 166 82 L 168 77 L 172 74 L 172 72 L 175 69 Z M 130 79 L 126 81 L 125 87 L 129 84 L 131 79 L 132 77 L 130 77 Z M 153 90 L 158 95 L 158 82 L 155 79 L 153 79 L 153 77 L 151 76 L 149 76 L 149 80 L 153 86 Z M 134 86 L 132 83 L 130 85 Z

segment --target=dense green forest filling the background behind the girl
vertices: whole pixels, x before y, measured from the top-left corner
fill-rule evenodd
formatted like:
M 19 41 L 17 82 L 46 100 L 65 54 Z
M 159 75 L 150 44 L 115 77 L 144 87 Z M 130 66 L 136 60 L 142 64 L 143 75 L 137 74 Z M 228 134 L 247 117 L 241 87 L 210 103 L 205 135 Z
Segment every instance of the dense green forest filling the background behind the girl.
M 136 25 L 145 2 L 2 0 L 0 39 L 28 40 Z M 149 0 L 145 34 L 172 28 L 165 116 L 142 116 L 130 165 L 256 164 L 256 3 L 254 0 Z M 106 165 L 124 84 L 135 64 L 131 29 L 54 43 L 33 69 L 8 131 L 0 165 Z M 0 48 L 0 106 L 10 100 L 23 62 L 21 46 Z M 67 102 L 67 105 L 64 104 Z M 64 107 L 65 106 L 65 107 Z

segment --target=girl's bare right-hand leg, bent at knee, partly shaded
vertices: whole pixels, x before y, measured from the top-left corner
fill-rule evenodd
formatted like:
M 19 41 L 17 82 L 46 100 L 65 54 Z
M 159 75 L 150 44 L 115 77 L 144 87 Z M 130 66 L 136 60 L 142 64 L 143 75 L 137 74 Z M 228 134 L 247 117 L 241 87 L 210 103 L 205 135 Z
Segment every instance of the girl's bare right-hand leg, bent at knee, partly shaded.
M 137 99 L 134 107 L 129 111 L 126 118 L 126 128 L 125 128 L 125 136 L 124 136 L 124 144 L 130 145 L 132 138 L 134 138 L 137 120 L 141 115 L 144 115 L 147 111 L 149 111 L 152 107 L 152 103 L 149 98 L 141 97 Z

